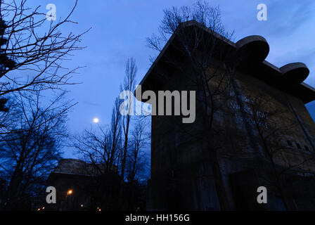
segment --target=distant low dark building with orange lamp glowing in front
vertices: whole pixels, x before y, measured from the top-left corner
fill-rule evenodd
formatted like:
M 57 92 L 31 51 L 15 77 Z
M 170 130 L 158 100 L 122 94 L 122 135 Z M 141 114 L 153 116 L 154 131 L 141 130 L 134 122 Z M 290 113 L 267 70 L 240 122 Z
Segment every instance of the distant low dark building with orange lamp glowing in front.
M 110 172 L 105 172 L 105 165 L 97 167 L 82 160 L 60 160 L 47 181 L 57 192 L 57 204 L 49 205 L 50 210 L 113 209 L 120 184 L 117 167 Z

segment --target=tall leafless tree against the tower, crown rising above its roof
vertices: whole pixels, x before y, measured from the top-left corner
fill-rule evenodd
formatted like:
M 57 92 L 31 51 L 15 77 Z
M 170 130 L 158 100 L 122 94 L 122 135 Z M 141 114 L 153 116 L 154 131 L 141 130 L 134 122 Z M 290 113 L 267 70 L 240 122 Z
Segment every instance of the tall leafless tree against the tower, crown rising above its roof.
M 188 81 L 187 88 L 197 91 L 196 100 L 201 105 L 197 110 L 202 112 L 202 135 L 195 134 L 195 130 L 181 131 L 192 139 L 200 140 L 202 137 L 206 143 L 221 210 L 229 210 L 217 153 L 220 146 L 215 143 L 215 136 L 221 131 L 214 129 L 214 120 L 218 113 L 224 113 L 226 99 L 230 98 L 231 79 L 236 65 L 224 42 L 233 38 L 233 32 L 224 30 L 219 7 L 213 8 L 206 1 L 197 1 L 192 7 L 173 7 L 164 13 L 159 34 L 148 38 L 148 46 L 162 52 L 162 47 L 169 44 L 168 48 L 183 56 L 176 58 L 174 54 L 164 52 L 160 59 L 179 71 Z M 187 23 L 195 26 L 188 29 L 185 27 Z M 167 42 L 169 39 L 172 41 Z M 162 73 L 167 82 L 167 75 Z

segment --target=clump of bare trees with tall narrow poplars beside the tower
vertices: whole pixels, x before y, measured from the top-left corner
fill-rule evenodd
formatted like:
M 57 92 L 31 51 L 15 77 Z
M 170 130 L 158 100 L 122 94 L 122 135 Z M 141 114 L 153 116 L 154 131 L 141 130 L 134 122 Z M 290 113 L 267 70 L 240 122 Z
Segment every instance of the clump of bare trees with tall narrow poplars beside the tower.
M 130 58 L 121 91 L 134 91 L 136 71 L 135 60 Z M 116 98 L 110 124 L 98 124 L 94 129 L 72 136 L 72 146 L 84 162 L 94 167 L 98 177 L 94 185 L 88 187 L 91 195 L 98 196 L 89 200 L 91 210 L 97 208 L 96 205 L 103 210 L 146 208 L 148 118 L 122 115 L 122 101 Z M 131 104 L 134 101 L 130 99 L 125 110 L 131 110 Z

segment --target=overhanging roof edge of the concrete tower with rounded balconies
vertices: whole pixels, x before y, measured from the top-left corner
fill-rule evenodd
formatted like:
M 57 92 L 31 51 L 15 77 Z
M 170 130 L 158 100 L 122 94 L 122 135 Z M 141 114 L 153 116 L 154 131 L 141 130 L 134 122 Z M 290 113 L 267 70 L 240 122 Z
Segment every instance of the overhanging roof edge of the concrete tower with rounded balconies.
M 224 48 L 226 52 L 234 54 L 237 58 L 242 58 L 242 63 L 239 64 L 238 70 L 300 98 L 304 104 L 315 100 L 315 89 L 304 83 L 304 80 L 309 75 L 307 65 L 304 63 L 289 63 L 278 68 L 267 62 L 265 58 L 269 53 L 269 44 L 264 37 L 252 35 L 234 43 L 209 28 L 203 27 L 195 20 L 182 23 L 177 29 L 201 29 L 209 37 L 219 41 L 221 43 L 220 47 Z M 159 86 L 167 80 L 161 75 L 159 70 L 171 70 L 174 67 L 174 65 L 170 65 L 163 58 L 167 53 L 176 54 L 176 50 L 172 47 L 172 44 L 176 41 L 176 35 L 176 32 L 172 34 L 141 80 L 139 84 L 141 85 L 141 92 L 146 90 L 157 91 Z M 139 89 L 136 89 L 137 91 Z M 141 101 L 141 99 L 138 100 Z

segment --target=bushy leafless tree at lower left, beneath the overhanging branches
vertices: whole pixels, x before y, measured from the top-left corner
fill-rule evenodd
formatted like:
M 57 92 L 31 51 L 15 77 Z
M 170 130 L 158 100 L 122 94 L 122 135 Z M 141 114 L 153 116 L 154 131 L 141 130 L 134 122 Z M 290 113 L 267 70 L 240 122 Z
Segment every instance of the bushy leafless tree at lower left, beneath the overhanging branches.
M 44 102 L 44 103 L 43 103 Z M 15 117 L 1 134 L 0 173 L 7 182 L 7 210 L 16 210 L 30 196 L 38 195 L 46 177 L 60 159 L 67 137 L 65 122 L 73 104 L 60 94 L 53 100 L 11 94 L 10 112 Z M 41 190 L 42 191 L 42 190 Z

